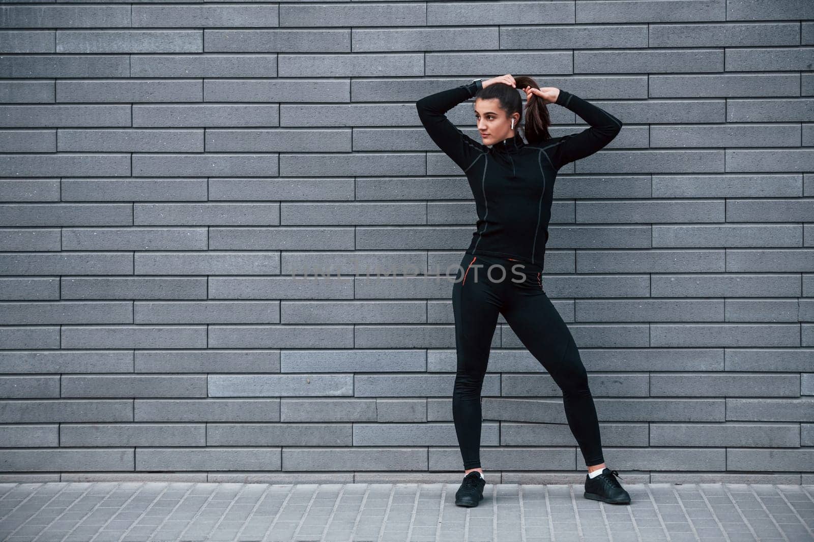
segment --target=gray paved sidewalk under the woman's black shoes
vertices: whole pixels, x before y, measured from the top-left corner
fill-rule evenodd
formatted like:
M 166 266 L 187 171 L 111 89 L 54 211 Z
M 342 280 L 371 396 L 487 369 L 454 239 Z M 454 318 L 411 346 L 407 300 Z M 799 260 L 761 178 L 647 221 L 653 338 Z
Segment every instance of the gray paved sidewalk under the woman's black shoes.
M 448 483 L 0 483 L 0 540 L 814 540 L 814 486 L 488 483 L 476 508 Z

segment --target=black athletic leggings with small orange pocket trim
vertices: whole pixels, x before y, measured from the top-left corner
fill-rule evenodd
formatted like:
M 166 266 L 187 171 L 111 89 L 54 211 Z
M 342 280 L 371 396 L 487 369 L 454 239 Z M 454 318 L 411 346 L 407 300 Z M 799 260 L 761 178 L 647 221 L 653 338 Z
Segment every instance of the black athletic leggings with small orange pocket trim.
M 522 276 L 514 273 L 515 265 L 523 265 L 515 268 Z M 585 465 L 603 463 L 588 374 L 571 331 L 543 290 L 539 268 L 469 252 L 464 254 L 461 268 L 453 283 L 457 348 L 453 420 L 464 469 L 480 467 L 480 391 L 498 313 L 562 390 L 568 426 L 580 445 Z

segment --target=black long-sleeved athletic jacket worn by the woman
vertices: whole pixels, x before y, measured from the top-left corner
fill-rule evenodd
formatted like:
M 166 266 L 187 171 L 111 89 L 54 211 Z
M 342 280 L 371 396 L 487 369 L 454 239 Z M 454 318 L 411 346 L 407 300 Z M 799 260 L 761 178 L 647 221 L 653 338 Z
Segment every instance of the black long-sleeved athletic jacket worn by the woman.
M 478 221 L 466 252 L 521 260 L 541 271 L 554 197 L 554 179 L 563 165 L 592 155 L 610 143 L 622 123 L 599 107 L 560 90 L 557 104 L 590 127 L 536 145 L 519 135 L 486 146 L 469 138 L 444 113 L 483 88 L 481 81 L 442 90 L 418 100 L 418 117 L 430 138 L 458 164 L 475 196 Z

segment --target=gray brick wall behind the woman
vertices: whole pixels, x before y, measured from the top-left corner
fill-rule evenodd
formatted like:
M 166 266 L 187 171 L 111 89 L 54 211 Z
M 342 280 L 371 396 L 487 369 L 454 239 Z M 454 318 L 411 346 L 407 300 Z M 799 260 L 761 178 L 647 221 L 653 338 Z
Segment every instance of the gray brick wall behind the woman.
M 562 169 L 544 277 L 609 466 L 814 483 L 814 3 L 23 2 L 0 27 L 0 481 L 457 477 L 435 271 L 475 206 L 414 103 L 510 72 L 624 121 Z M 582 479 L 558 387 L 503 317 L 492 347 L 484 469 Z

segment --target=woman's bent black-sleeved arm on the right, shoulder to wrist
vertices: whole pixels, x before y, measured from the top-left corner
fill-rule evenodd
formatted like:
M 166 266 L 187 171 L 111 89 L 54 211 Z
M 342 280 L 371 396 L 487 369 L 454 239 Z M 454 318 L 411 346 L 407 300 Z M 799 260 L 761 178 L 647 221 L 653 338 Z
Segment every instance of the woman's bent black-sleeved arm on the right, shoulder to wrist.
M 579 133 L 563 136 L 558 143 L 549 148 L 551 162 L 558 169 L 569 162 L 593 155 L 613 141 L 622 129 L 621 120 L 567 90 L 560 89 L 555 103 L 574 111 L 591 125 Z

